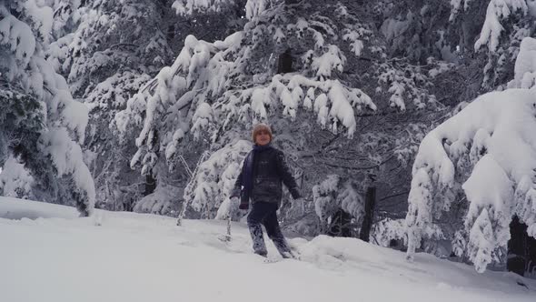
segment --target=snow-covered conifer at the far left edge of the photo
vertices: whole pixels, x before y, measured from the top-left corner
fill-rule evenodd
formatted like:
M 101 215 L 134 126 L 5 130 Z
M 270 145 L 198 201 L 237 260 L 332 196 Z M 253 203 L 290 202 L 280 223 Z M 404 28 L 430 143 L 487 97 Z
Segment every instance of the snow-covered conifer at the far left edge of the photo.
M 89 216 L 94 181 L 79 146 L 87 110 L 45 60 L 52 16 L 50 7 L 34 1 L 0 3 L 0 158 L 11 154 L 24 162 L 38 199 L 75 203 Z

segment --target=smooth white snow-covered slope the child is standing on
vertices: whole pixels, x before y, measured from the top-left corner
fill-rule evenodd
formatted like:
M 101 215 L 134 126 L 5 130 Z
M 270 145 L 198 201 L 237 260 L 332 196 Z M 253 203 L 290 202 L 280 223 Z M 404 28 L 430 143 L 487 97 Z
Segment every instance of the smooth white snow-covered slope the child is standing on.
M 265 264 L 224 226 L 0 197 L 0 301 L 536 301 L 536 280 L 358 239 L 294 238 L 303 261 Z

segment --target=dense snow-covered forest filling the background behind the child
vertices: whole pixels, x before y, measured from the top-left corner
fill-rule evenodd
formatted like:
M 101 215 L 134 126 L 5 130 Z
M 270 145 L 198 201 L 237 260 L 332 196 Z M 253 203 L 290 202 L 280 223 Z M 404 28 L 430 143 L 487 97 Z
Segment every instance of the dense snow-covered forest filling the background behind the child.
M 534 0 L 3 0 L 0 195 L 239 220 L 265 122 L 305 197 L 287 231 L 372 218 L 501 267 L 512 221 L 536 237 L 535 29 Z

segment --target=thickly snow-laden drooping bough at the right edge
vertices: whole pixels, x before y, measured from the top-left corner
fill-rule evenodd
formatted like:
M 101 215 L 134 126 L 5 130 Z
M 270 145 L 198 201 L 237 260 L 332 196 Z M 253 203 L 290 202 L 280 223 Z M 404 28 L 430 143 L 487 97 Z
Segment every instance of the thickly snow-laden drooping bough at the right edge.
M 408 256 L 434 219 L 465 196 L 454 251 L 479 272 L 502 262 L 513 216 L 536 237 L 536 90 L 478 97 L 422 140 L 412 168 L 406 216 Z

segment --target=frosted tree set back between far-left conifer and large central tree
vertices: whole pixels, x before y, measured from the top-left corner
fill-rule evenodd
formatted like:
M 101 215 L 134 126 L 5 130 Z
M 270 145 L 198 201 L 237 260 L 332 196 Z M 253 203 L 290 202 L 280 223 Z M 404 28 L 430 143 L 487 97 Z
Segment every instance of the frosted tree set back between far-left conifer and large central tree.
M 47 59 L 90 109 L 85 159 L 94 174 L 99 207 L 133 210 L 144 194 L 146 181 L 128 165 L 134 137 L 120 135 L 113 122 L 126 100 L 173 55 L 168 46 L 174 38 L 173 15 L 166 9 L 170 5 L 97 0 L 60 2 L 56 10 L 58 27 L 63 20 L 72 21 L 61 27 L 65 35 L 58 32 Z M 146 194 L 151 192 L 145 188 Z

